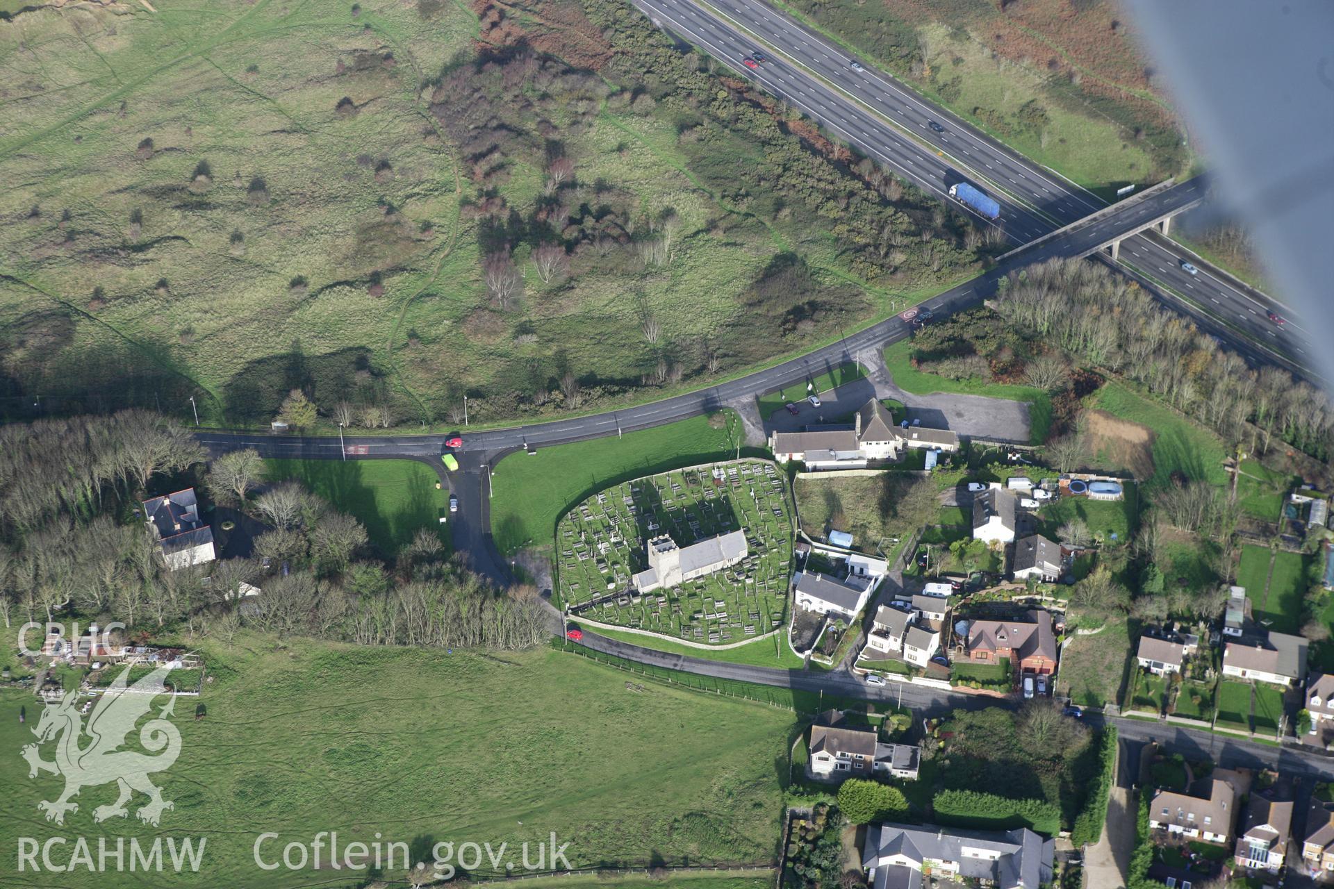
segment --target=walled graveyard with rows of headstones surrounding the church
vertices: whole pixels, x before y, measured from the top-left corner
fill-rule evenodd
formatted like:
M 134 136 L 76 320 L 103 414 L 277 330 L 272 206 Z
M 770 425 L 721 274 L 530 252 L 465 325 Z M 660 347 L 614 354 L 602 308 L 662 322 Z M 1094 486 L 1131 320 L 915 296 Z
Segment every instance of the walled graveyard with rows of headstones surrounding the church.
M 738 564 L 679 586 L 639 593 L 644 542 L 679 546 L 742 530 Z M 558 605 L 571 620 L 640 629 L 700 645 L 746 642 L 779 630 L 787 616 L 792 510 L 783 473 L 738 460 L 626 481 L 592 494 L 556 526 Z

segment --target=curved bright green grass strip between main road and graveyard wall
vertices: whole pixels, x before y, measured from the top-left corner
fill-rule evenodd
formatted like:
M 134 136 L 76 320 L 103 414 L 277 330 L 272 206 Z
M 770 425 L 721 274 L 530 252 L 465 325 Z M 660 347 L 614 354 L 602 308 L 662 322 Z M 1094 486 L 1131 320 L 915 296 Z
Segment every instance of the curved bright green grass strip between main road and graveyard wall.
M 603 488 L 734 456 L 723 413 L 510 454 L 491 473 L 491 532 L 500 552 L 550 546 L 560 516 Z

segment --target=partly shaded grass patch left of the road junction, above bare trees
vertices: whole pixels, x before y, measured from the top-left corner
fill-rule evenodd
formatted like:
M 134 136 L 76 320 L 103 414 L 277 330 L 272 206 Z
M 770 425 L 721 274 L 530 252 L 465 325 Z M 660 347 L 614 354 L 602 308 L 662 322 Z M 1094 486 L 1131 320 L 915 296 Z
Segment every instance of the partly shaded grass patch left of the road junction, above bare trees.
M 395 554 L 418 530 L 430 528 L 446 545 L 450 536 L 440 524 L 448 493 L 436 490 L 435 472 L 412 460 L 265 460 L 269 481 L 288 478 L 355 516 L 386 556 Z

